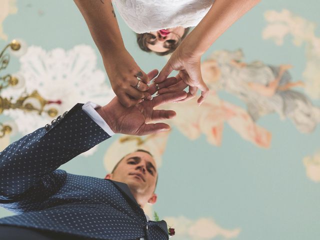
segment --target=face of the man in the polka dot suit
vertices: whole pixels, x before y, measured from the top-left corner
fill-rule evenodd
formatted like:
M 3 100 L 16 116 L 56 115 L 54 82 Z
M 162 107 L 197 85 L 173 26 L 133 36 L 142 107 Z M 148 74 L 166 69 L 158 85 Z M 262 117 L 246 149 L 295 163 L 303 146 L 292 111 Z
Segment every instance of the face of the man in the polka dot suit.
M 150 197 L 155 189 L 157 178 L 153 157 L 142 151 L 126 155 L 110 174 L 110 179 L 124 182 L 131 192 Z

